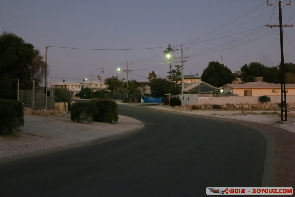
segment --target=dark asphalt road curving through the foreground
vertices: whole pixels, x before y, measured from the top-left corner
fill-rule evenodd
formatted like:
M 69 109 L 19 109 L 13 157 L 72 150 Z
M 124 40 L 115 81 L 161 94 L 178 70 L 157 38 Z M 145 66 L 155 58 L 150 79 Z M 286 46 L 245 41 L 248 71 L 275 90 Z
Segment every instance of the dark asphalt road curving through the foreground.
M 0 164 L 0 196 L 205 196 L 260 187 L 266 142 L 247 127 L 119 105 L 141 130 Z

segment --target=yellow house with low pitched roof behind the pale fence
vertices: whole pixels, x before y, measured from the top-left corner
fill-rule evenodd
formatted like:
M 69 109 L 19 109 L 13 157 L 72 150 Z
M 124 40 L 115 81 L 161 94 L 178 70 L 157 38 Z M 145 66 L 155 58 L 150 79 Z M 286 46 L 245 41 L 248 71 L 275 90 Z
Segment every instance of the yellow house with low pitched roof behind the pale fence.
M 228 83 L 222 86 L 224 93 L 239 96 L 281 95 L 281 84 L 262 81 L 248 83 Z M 295 84 L 286 84 L 286 95 L 295 95 Z

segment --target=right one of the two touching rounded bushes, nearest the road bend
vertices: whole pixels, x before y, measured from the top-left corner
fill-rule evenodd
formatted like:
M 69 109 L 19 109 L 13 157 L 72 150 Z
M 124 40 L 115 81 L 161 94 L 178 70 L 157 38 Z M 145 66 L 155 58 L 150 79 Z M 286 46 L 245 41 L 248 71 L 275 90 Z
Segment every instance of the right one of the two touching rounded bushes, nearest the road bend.
M 96 114 L 93 116 L 95 122 L 118 122 L 118 105 L 112 100 L 92 99 L 90 102 L 94 103 L 97 108 Z

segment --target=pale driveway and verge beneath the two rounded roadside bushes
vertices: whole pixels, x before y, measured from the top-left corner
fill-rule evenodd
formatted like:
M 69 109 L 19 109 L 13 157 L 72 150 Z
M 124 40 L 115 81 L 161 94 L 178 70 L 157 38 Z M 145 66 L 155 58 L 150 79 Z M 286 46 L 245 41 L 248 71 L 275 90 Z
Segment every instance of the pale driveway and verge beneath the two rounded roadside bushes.
M 69 117 L 68 117 L 69 118 Z M 53 120 L 50 117 L 24 117 L 22 132 L 51 138 L 61 144 L 75 144 L 104 138 L 110 135 L 144 127 L 144 124 L 130 117 L 119 115 L 117 124 L 92 122 L 91 124 Z

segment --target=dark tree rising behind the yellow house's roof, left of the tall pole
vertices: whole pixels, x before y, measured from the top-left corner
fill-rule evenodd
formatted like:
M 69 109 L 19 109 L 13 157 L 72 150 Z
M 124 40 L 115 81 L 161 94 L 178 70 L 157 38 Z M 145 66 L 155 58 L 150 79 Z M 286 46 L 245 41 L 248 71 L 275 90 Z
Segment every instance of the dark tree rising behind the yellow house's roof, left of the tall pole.
M 263 77 L 264 82 L 278 83 L 278 67 L 266 67 L 259 62 L 250 62 L 241 67 L 242 80 L 254 82 L 255 77 Z

